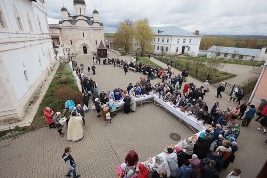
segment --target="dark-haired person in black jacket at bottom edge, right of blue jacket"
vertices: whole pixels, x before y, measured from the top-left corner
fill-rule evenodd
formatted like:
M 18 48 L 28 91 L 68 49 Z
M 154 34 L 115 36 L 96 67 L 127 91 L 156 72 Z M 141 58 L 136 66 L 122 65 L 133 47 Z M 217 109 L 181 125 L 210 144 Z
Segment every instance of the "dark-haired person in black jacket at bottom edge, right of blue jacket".
M 219 178 L 219 173 L 217 171 L 216 167 L 216 161 L 211 160 L 210 164 L 204 165 L 200 169 L 200 178 Z

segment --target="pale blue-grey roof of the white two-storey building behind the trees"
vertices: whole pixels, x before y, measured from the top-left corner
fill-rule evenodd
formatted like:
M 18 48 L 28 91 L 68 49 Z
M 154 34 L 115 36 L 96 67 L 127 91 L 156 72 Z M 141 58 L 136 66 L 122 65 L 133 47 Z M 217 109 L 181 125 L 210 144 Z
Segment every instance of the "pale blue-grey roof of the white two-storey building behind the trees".
M 176 26 L 169 27 L 151 27 L 155 35 L 171 35 L 171 36 L 202 36 L 193 32 L 188 32 Z

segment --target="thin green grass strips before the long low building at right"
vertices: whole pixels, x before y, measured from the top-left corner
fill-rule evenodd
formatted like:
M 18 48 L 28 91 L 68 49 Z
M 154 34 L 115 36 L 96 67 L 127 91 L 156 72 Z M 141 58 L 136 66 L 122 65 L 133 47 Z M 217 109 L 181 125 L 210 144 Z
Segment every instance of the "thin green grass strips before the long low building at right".
M 190 56 L 179 56 L 178 59 L 188 59 L 188 58 L 191 58 Z M 192 60 L 196 60 L 196 59 L 200 59 L 200 57 L 193 57 Z M 205 62 L 211 62 L 213 61 L 214 59 L 212 58 L 205 58 L 205 57 L 201 57 L 202 61 L 205 61 Z M 261 66 L 261 65 L 264 65 L 264 63 L 261 63 L 261 62 L 251 62 L 251 61 L 241 61 L 241 60 L 234 60 L 233 62 L 230 60 L 230 59 L 218 59 L 217 60 L 220 62 L 220 63 L 223 63 L 223 64 L 235 64 L 235 65 L 250 65 L 250 66 Z

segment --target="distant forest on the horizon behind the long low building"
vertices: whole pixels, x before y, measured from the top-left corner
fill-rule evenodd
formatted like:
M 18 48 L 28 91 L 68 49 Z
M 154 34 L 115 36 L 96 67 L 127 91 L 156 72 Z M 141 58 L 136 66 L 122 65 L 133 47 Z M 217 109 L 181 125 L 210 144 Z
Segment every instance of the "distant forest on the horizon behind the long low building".
M 204 35 L 201 38 L 200 50 L 207 50 L 213 45 L 262 49 L 267 46 L 267 36 Z

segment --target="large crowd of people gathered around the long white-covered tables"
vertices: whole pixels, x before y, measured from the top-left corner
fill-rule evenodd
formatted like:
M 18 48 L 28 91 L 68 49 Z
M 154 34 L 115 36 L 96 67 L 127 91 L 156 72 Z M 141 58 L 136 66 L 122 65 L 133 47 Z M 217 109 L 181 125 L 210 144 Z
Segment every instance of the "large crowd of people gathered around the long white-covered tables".
M 100 58 L 94 58 L 94 63 L 100 64 Z M 67 139 L 78 141 L 83 138 L 83 126 L 85 125 L 85 112 L 88 109 L 89 99 L 96 107 L 98 113 L 97 117 L 101 117 L 100 111 L 103 107 L 109 106 L 111 117 L 116 116 L 116 102 L 124 101 L 124 113 L 134 112 L 136 110 L 135 97 L 144 95 L 157 94 L 159 98 L 165 102 L 169 102 L 174 108 L 180 108 L 186 115 L 192 115 L 203 124 L 208 124 L 209 129 L 206 129 L 200 134 L 196 140 L 186 139 L 179 146 L 167 146 L 165 156 L 156 156 L 153 167 L 155 170 L 149 169 L 143 163 L 138 163 L 138 154 L 131 150 L 125 162 L 117 167 L 117 178 L 148 178 L 150 171 L 152 171 L 153 178 L 218 178 L 221 169 L 226 169 L 230 162 L 234 162 L 235 152 L 238 150 L 237 138 L 240 134 L 240 125 L 235 120 L 242 120 L 241 126 L 248 127 L 252 118 L 256 115 L 259 117 L 261 126 L 258 130 L 264 130 L 267 126 L 267 101 L 262 99 L 261 105 L 255 109 L 254 105 L 245 102 L 240 105 L 241 99 L 244 97 L 243 90 L 238 92 L 234 90 L 231 98 L 233 102 L 237 97 L 238 105 L 233 109 L 227 107 L 223 110 L 217 101 L 212 107 L 208 107 L 208 102 L 204 101 L 204 96 L 209 92 L 209 82 L 205 81 L 202 86 L 197 87 L 194 83 L 188 83 L 188 71 L 184 70 L 180 75 L 167 68 L 162 70 L 150 65 L 128 63 L 127 61 L 119 59 L 103 59 L 103 65 L 120 65 L 125 71 L 132 68 L 135 72 L 142 72 L 148 75 L 148 79 L 140 76 L 140 79 L 133 85 L 129 83 L 126 89 L 115 87 L 106 93 L 101 90 L 99 94 L 99 87 L 92 78 L 88 78 L 83 71 L 81 71 L 82 86 L 84 89 L 83 106 L 78 104 L 73 110 L 66 107 L 63 115 L 67 118 Z M 90 66 L 88 66 L 90 72 Z M 95 70 L 93 71 L 95 73 Z M 160 78 L 160 82 L 152 85 L 150 80 Z M 184 88 L 182 89 L 182 84 Z M 220 92 L 224 91 L 222 83 L 219 84 L 217 90 L 217 97 L 221 97 Z M 237 93 L 237 94 L 236 94 Z M 87 108 L 87 109 L 86 109 Z M 88 109 L 89 110 L 89 109 Z M 245 115 L 244 119 L 242 117 Z M 50 128 L 55 128 L 60 136 L 64 136 L 62 128 L 64 124 L 61 122 L 61 113 L 54 113 L 49 107 L 44 109 L 44 116 Z M 263 118 L 262 120 L 259 120 Z M 79 133 L 73 134 L 72 130 L 79 130 Z M 68 163 L 67 153 L 69 155 L 70 148 L 65 149 L 63 159 L 69 169 L 67 177 L 73 172 L 76 176 L 74 160 L 72 164 Z M 69 157 L 69 156 L 68 156 Z M 67 160 L 67 161 L 66 161 Z M 239 178 L 241 174 L 240 169 L 234 170 L 227 176 L 227 178 Z

